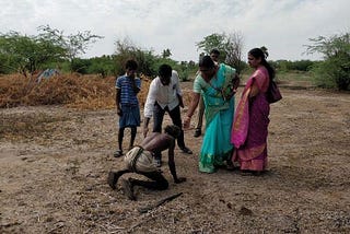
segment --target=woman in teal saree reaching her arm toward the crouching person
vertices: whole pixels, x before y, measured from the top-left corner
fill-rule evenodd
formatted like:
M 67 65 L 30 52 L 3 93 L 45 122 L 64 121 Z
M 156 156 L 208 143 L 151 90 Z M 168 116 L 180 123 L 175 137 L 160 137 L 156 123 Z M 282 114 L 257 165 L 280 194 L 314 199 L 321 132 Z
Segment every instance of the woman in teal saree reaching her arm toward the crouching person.
M 238 85 L 235 69 L 215 65 L 209 56 L 199 62 L 200 73 L 194 82 L 192 102 L 184 120 L 188 128 L 190 118 L 198 106 L 200 95 L 205 101 L 206 133 L 199 155 L 199 171 L 213 173 L 231 162 L 233 144 L 231 127 L 234 115 L 234 93 Z

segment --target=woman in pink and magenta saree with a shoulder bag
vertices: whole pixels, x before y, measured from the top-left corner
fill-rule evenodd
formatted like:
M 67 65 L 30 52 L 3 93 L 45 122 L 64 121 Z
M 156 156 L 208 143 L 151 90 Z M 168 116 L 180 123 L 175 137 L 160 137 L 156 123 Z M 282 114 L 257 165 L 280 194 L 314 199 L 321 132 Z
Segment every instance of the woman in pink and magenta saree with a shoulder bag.
M 267 167 L 267 136 L 270 105 L 266 93 L 275 70 L 259 48 L 248 52 L 248 63 L 255 69 L 242 93 L 235 110 L 231 142 L 235 145 L 233 162 L 241 171 L 260 174 Z

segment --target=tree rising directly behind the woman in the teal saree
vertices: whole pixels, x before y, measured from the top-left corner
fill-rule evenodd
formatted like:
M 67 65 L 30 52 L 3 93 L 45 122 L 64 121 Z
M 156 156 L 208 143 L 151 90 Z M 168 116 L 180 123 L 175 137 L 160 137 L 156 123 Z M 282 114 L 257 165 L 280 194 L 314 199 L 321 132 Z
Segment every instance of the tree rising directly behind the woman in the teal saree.
M 242 61 L 243 36 L 237 33 L 214 33 L 206 36 L 201 42 L 196 44 L 198 50 L 209 54 L 211 49 L 217 48 L 220 51 L 219 60 L 234 67 L 240 73 L 245 68 Z

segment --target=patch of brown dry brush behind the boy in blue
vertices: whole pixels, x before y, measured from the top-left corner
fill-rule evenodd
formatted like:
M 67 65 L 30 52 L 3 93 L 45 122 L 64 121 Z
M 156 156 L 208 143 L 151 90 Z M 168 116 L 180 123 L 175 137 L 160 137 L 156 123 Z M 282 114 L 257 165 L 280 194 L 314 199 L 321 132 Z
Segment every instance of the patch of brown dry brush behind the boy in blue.
M 150 79 L 141 77 L 139 94 L 144 105 Z M 36 105 L 66 105 L 78 109 L 115 107 L 115 78 L 98 75 L 62 74 L 37 82 L 20 74 L 0 77 L 0 107 Z

